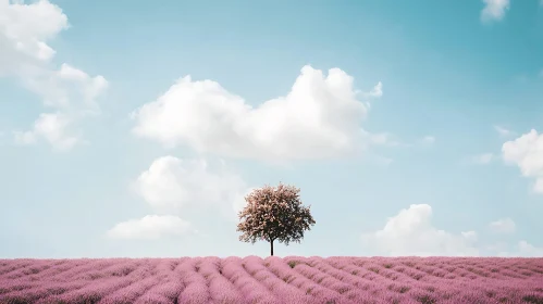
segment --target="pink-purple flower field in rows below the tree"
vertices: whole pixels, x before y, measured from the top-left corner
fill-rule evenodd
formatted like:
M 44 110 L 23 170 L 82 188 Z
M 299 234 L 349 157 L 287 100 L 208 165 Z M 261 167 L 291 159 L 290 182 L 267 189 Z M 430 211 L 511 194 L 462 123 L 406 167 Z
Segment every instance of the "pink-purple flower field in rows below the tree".
M 0 259 L 0 303 L 543 303 L 543 258 Z

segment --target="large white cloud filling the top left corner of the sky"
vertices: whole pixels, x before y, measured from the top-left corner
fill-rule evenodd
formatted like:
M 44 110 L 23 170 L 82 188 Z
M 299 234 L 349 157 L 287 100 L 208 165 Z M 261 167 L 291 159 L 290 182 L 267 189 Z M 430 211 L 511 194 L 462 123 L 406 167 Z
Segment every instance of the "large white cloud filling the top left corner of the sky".
M 49 40 L 69 27 L 62 10 L 47 0 L 30 4 L 0 0 L 0 76 L 16 76 L 50 106 L 94 100 L 108 87 L 103 76 L 90 77 L 69 64 L 51 69 L 55 51 Z

